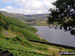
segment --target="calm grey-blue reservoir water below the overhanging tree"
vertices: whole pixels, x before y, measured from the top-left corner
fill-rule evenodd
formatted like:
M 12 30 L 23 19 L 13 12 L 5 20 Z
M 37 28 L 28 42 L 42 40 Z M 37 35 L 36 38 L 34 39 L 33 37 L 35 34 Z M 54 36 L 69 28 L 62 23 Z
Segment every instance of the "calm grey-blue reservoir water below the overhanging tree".
M 48 40 L 50 43 L 61 44 L 75 47 L 75 36 L 71 35 L 69 31 L 64 31 L 49 26 L 34 26 L 38 29 L 37 34 Z

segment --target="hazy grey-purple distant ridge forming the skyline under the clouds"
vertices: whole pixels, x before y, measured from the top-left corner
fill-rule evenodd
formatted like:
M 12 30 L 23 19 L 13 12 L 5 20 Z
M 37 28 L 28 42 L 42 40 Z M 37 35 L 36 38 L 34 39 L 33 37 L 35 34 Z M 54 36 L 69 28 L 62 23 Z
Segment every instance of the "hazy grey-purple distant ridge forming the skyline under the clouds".
M 24 15 L 24 14 L 18 14 L 18 13 L 9 13 L 6 11 L 0 11 L 0 13 L 10 16 L 10 17 L 15 17 L 17 19 L 47 19 L 48 14 L 35 14 L 35 15 Z

